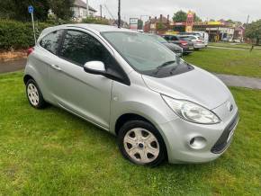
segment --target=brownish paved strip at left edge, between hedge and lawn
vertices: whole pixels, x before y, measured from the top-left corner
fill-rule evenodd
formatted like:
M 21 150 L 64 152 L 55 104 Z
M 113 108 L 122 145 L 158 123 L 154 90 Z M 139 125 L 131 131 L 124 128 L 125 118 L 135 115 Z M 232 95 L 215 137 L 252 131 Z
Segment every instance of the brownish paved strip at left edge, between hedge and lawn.
M 9 60 L 9 61 L 0 61 L 0 74 L 7 72 L 14 72 L 22 70 L 25 67 L 26 58 Z

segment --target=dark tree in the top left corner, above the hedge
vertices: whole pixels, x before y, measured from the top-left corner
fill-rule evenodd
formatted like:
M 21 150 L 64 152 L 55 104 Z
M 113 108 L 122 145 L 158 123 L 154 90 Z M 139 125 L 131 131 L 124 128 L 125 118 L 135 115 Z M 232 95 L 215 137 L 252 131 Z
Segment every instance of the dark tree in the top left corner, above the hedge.
M 30 21 L 31 15 L 28 13 L 28 6 L 34 7 L 34 18 L 45 21 L 48 17 L 49 3 L 48 0 L 1 0 L 0 17 L 4 19 L 14 19 L 16 21 Z

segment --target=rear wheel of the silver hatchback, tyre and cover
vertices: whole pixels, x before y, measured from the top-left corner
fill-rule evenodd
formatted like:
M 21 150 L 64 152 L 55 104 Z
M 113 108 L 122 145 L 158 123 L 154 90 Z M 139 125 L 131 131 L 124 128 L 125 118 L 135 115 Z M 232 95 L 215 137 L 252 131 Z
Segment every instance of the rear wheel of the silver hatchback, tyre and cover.
M 44 101 L 39 86 L 33 79 L 29 79 L 26 83 L 26 96 L 31 106 L 36 109 L 43 109 L 47 102 Z

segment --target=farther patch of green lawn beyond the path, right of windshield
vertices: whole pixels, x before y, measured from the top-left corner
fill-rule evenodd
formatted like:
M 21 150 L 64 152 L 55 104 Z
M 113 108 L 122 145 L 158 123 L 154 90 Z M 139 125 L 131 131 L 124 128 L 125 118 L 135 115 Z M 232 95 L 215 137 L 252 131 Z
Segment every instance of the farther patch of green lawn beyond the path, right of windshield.
M 184 57 L 210 72 L 261 77 L 261 51 L 202 49 Z

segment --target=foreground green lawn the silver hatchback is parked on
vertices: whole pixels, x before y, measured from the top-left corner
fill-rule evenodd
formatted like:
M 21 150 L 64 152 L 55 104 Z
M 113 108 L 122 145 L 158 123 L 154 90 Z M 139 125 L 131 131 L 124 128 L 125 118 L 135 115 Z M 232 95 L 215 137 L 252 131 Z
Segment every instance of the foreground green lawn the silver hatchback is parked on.
M 0 195 L 260 195 L 261 91 L 231 91 L 240 121 L 223 156 L 148 168 L 123 159 L 102 129 L 52 106 L 31 108 L 22 73 L 0 75 Z

